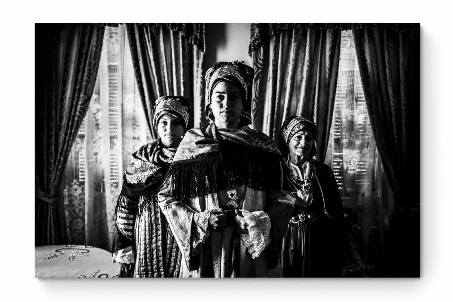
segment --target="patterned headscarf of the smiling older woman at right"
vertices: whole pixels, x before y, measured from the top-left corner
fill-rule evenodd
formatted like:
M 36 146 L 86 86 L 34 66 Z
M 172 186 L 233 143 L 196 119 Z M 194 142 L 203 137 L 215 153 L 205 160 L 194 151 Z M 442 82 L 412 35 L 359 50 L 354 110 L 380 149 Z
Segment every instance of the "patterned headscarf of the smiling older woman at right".
M 280 152 L 284 158 L 288 158 L 289 156 L 289 148 L 288 143 L 291 137 L 294 136 L 297 132 L 301 130 L 308 130 L 313 135 L 313 140 L 318 141 L 318 127 L 312 121 L 310 121 L 306 117 L 299 117 L 299 116 L 292 116 L 287 119 L 281 129 L 280 129 L 280 136 L 278 139 L 278 146 Z M 308 154 L 309 157 L 313 157 L 317 154 L 316 151 L 316 144 L 313 144 L 312 150 Z

